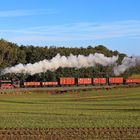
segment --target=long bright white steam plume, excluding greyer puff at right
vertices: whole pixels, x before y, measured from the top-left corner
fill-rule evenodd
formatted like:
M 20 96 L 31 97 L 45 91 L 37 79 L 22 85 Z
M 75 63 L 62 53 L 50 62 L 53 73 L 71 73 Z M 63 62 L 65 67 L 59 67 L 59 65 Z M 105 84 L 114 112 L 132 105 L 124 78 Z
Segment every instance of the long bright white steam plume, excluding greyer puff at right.
M 59 67 L 68 67 L 68 68 L 82 68 L 82 67 L 90 67 L 95 66 L 97 64 L 107 66 L 115 64 L 118 60 L 118 56 L 106 57 L 104 54 L 95 53 L 90 54 L 88 56 L 83 55 L 70 55 L 60 56 L 57 54 L 51 60 L 43 60 L 36 62 L 34 64 L 18 64 L 13 67 L 8 67 L 3 70 L 3 73 L 28 73 L 28 74 L 36 74 L 41 72 L 46 72 L 47 70 L 56 70 Z

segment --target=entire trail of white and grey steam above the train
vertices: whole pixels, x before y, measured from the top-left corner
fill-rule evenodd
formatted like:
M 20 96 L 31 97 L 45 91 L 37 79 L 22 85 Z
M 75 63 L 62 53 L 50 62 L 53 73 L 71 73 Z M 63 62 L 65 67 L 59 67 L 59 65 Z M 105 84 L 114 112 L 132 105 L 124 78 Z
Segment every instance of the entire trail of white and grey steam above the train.
M 3 70 L 3 74 L 6 73 L 28 73 L 34 75 L 47 70 L 57 70 L 59 67 L 62 68 L 83 68 L 91 67 L 96 65 L 110 66 L 114 65 L 114 74 L 116 76 L 124 73 L 127 69 L 140 64 L 139 57 L 125 57 L 121 65 L 117 64 L 118 56 L 106 57 L 104 54 L 95 53 L 88 56 L 84 55 L 70 55 L 68 57 L 57 54 L 51 60 L 43 60 L 34 64 L 18 64 L 13 67 L 7 67 Z

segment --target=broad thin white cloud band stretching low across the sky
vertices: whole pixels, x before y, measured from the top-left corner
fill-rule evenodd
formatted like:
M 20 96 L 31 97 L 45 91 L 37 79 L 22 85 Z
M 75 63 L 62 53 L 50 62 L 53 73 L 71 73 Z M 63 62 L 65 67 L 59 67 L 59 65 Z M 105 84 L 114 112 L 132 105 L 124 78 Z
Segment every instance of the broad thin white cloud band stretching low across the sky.
M 12 34 L 8 39 L 17 43 L 83 41 L 120 37 L 134 38 L 140 36 L 140 21 L 129 20 L 102 24 L 85 22 L 26 29 L 0 30 L 0 32 L 2 34 Z

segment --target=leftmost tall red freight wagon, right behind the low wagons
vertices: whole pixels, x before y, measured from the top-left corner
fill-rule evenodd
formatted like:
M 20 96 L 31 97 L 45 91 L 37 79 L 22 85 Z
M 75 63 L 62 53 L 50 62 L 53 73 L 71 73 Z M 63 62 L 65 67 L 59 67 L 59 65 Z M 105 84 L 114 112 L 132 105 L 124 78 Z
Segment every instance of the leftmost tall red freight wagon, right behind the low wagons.
M 59 85 L 74 85 L 75 78 L 71 77 L 61 77 L 59 78 Z

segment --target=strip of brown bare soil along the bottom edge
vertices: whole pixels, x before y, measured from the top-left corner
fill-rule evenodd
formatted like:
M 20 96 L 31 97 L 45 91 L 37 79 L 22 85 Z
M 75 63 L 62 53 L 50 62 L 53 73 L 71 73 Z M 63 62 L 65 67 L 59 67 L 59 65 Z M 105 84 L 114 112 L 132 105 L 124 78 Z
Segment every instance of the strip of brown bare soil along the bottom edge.
M 7 128 L 0 140 L 94 140 L 140 139 L 140 128 Z

